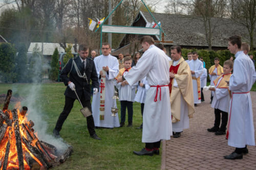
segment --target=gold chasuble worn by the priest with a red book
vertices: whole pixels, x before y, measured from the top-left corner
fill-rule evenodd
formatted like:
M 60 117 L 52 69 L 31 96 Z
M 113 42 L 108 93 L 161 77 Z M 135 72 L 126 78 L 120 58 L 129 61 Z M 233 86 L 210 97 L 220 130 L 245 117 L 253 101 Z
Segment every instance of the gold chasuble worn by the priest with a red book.
M 170 108 L 172 111 L 172 122 L 176 123 L 180 121 L 181 95 L 187 103 L 188 117 L 193 117 L 195 113 L 193 84 L 190 68 L 183 57 L 180 58 L 176 66 L 173 66 L 173 61 L 170 61 L 169 65 L 170 72 L 175 74 L 178 84 L 178 87 L 174 87 L 174 79 L 170 79 L 169 87 L 172 87 L 170 90 Z

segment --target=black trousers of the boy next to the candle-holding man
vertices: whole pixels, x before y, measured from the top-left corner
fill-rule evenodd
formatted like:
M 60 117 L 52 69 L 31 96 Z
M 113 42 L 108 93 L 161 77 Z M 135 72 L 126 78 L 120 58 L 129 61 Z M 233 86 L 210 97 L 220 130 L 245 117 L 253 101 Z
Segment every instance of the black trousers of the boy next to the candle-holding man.
M 128 110 L 128 123 L 133 123 L 133 102 L 120 101 L 121 105 L 121 123 L 125 122 L 126 107 Z

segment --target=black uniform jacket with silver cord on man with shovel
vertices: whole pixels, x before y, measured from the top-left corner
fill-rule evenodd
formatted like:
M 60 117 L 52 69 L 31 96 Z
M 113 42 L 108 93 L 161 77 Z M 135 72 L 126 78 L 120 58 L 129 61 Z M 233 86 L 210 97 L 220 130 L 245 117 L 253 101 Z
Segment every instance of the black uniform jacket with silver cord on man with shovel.
M 83 65 L 81 62 L 80 57 L 74 58 L 74 61 L 81 73 L 83 75 Z M 82 95 L 84 95 L 84 98 L 86 100 L 91 100 L 91 88 L 90 88 L 90 80 L 92 80 L 92 86 L 93 88 L 98 88 L 99 89 L 99 82 L 98 82 L 98 76 L 96 72 L 96 68 L 94 65 L 94 61 L 91 58 L 87 58 L 86 61 L 86 76 L 87 80 L 84 78 L 80 78 L 77 75 L 76 69 L 74 65 L 72 66 L 73 59 L 70 59 L 66 66 L 62 69 L 61 71 L 61 79 L 63 83 L 68 86 L 68 82 L 71 81 L 75 84 L 76 88 L 76 93 L 79 96 L 79 99 L 81 99 Z M 68 74 L 70 73 L 69 77 Z M 72 91 L 69 87 L 67 87 L 65 93 L 66 96 L 69 98 L 77 99 L 76 94 L 74 91 Z

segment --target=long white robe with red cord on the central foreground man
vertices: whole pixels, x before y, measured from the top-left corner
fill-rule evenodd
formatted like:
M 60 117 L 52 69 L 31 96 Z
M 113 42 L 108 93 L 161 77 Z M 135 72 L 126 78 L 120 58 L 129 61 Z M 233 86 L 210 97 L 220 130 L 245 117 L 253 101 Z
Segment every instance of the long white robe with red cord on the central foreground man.
M 168 63 L 165 53 L 155 45 L 151 45 L 136 66 L 124 76 L 129 84 L 134 84 L 146 76 L 148 85 L 151 86 L 146 93 L 142 142 L 169 140 L 172 135 Z

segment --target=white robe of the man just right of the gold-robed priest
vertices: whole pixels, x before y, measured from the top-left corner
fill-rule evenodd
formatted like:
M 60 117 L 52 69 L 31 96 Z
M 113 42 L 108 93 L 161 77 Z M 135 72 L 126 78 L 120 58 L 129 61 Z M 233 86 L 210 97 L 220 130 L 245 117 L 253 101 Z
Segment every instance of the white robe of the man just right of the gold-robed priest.
M 203 74 L 203 62 L 200 60 L 191 60 L 188 62 L 188 65 L 190 67 L 190 70 L 195 71 L 195 74 L 192 75 L 192 77 L 199 78 Z M 197 80 L 193 79 L 193 94 L 194 94 L 194 103 L 198 104 L 201 103 L 201 99 L 198 99 L 198 86 L 197 86 Z M 200 96 L 201 97 L 201 96 Z

